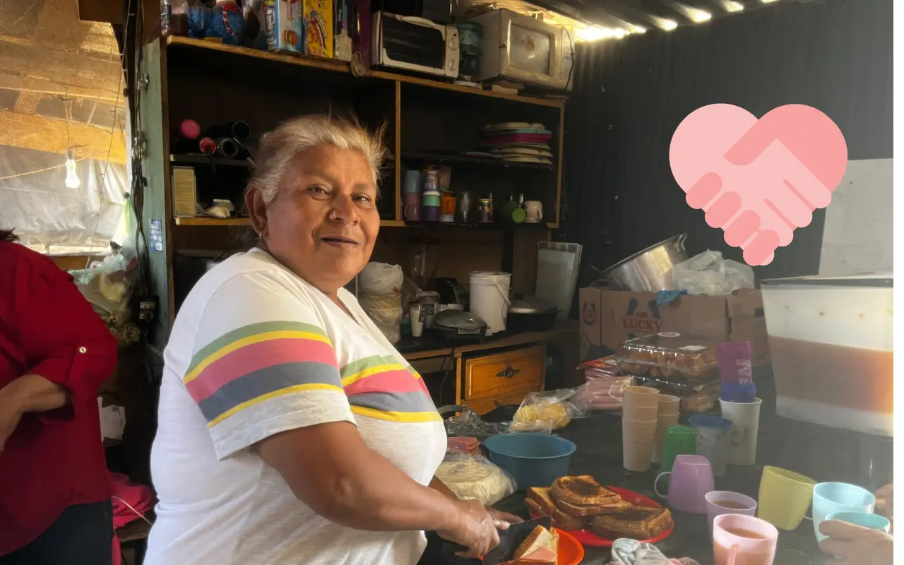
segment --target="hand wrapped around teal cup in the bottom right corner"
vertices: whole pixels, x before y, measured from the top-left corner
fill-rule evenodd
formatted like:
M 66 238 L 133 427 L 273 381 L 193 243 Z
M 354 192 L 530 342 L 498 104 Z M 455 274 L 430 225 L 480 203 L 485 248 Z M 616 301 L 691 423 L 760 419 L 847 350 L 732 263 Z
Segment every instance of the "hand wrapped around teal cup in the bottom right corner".
M 893 538 L 885 532 L 838 520 L 819 524 L 819 531 L 829 536 L 819 542 L 819 549 L 835 556 L 825 565 L 891 565 Z

